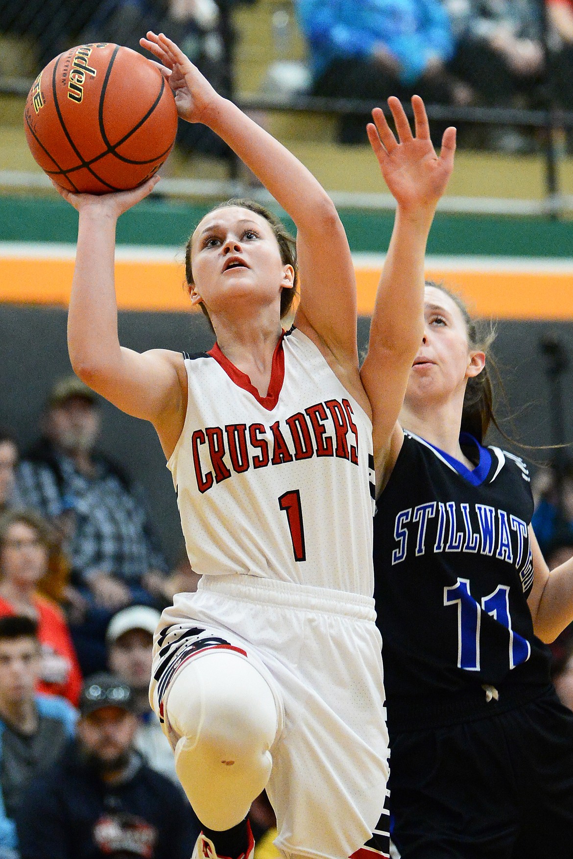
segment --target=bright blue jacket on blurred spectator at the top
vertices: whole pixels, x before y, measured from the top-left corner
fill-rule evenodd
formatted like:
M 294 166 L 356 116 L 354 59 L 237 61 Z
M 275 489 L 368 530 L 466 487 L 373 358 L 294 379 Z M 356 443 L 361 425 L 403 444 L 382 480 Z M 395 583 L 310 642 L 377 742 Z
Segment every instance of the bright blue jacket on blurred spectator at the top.
M 454 54 L 448 15 L 440 0 L 296 0 L 315 77 L 334 59 L 368 58 L 382 43 L 399 60 L 400 81 L 423 75 L 430 57 Z

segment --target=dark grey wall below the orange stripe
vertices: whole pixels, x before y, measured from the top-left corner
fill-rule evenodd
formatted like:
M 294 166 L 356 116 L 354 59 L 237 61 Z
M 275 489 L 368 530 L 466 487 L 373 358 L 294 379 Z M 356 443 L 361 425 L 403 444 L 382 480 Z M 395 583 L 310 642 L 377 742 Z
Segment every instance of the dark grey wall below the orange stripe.
M 0 305 L 0 423 L 15 431 L 23 450 L 38 435 L 40 412 L 53 382 L 71 372 L 65 328 L 63 308 Z M 368 330 L 369 320 L 359 320 L 361 350 L 367 344 Z M 123 313 L 119 314 L 119 334 L 122 344 L 138 351 L 161 347 L 195 352 L 209 349 L 213 342 L 201 314 Z M 573 323 L 503 321 L 497 327 L 494 354 L 509 394 L 510 411 L 515 412 L 516 435 L 528 444 L 552 442 L 546 363 L 539 352 L 539 338 L 548 334 L 561 339 L 573 357 Z M 565 427 L 567 441 L 573 442 L 570 392 L 573 369 L 564 374 Z M 182 546 L 179 515 L 155 431 L 107 402 L 102 402 L 102 411 L 101 448 L 143 484 L 157 532 L 173 562 Z M 499 438 L 492 435 L 491 441 L 499 443 Z M 508 447 L 507 442 L 502 443 Z M 547 455 L 536 451 L 533 460 L 542 461 Z M 532 454 L 527 453 L 526 458 L 531 460 Z

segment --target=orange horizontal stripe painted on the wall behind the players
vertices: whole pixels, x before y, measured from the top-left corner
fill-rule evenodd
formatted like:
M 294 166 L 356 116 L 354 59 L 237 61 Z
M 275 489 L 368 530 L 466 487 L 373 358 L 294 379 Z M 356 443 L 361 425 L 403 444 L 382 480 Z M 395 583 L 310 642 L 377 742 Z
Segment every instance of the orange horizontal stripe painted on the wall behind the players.
M 460 291 L 472 312 L 498 319 L 573 320 L 572 271 L 466 271 L 429 268 L 427 276 Z M 169 261 L 116 261 L 118 306 L 122 310 L 186 311 L 183 266 Z M 67 305 L 72 259 L 0 259 L 0 302 Z M 357 267 L 358 312 L 374 307 L 380 267 Z

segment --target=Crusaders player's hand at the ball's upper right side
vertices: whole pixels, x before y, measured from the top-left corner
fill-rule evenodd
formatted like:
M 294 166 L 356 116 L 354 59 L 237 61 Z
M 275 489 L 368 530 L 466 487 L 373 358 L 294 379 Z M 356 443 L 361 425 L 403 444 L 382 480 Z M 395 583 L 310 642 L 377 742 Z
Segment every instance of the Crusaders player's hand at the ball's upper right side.
M 151 32 L 139 44 L 159 60 L 175 96 L 177 112 L 187 122 L 209 125 L 209 114 L 221 96 L 189 58 L 167 36 Z

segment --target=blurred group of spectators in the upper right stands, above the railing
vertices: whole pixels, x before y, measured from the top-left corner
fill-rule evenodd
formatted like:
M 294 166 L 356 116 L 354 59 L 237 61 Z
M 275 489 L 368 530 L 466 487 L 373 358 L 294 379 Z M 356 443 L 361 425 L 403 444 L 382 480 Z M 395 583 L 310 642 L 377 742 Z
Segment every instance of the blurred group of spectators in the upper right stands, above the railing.
M 538 0 L 296 0 L 314 94 L 383 101 L 416 92 L 464 107 L 533 108 L 552 98 L 570 109 L 573 3 L 546 5 L 544 15 Z M 344 117 L 341 141 L 363 140 L 363 125 Z M 503 127 L 489 142 L 531 145 Z

